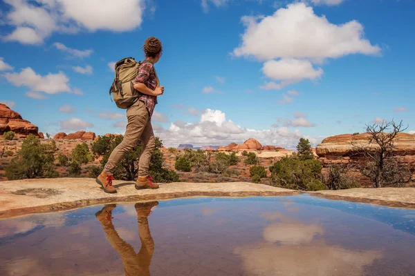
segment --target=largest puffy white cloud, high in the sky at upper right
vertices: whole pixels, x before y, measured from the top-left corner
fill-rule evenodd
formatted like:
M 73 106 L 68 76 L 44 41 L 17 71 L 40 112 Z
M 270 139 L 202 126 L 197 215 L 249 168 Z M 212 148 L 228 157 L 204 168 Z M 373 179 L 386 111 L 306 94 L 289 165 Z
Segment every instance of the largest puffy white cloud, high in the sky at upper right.
M 380 53 L 379 46 L 372 46 L 364 38 L 363 26 L 358 21 L 335 25 L 324 16 L 318 17 L 305 3 L 290 4 L 270 16 L 246 16 L 242 22 L 246 32 L 242 45 L 233 51 L 237 57 L 325 59 Z

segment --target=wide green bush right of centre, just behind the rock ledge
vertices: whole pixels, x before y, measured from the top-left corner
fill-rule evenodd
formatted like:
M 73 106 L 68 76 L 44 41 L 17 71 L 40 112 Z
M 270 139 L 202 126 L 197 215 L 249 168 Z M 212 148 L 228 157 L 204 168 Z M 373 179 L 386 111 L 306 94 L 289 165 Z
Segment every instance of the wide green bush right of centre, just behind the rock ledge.
M 297 156 L 283 157 L 270 167 L 273 185 L 294 190 L 322 190 L 325 185 L 317 179 L 322 164 L 316 159 L 302 160 Z

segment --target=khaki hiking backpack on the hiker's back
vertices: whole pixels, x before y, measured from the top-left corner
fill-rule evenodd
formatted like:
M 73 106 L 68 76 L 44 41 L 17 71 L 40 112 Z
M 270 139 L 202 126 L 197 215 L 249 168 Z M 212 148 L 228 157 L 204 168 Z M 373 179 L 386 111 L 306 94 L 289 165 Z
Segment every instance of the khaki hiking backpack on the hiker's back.
M 142 61 L 137 62 L 133 57 L 127 57 L 114 66 L 116 78 L 109 88 L 109 95 L 113 93 L 113 99 L 119 108 L 129 108 L 140 96 L 140 92 L 133 88 L 133 79 L 136 78 L 141 63 Z

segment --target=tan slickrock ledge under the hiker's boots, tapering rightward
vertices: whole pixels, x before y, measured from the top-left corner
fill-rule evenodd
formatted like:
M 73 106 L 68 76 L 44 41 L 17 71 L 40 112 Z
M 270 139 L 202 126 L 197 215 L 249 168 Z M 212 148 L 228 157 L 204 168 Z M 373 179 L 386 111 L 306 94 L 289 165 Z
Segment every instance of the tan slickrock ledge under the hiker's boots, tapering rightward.
M 83 208 L 97 204 L 174 199 L 178 197 L 254 197 L 299 195 L 267 185 L 170 183 L 156 190 L 136 190 L 133 181 L 113 181 L 116 194 L 104 193 L 91 178 L 25 179 L 0 182 L 0 219 Z

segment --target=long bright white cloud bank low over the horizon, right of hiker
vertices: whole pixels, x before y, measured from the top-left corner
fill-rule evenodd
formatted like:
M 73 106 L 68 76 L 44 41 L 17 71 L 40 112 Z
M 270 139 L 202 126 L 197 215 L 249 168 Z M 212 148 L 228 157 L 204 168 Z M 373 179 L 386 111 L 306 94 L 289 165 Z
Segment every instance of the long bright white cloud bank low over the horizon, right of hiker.
M 300 137 L 311 141 L 313 146 L 322 141 L 322 137 L 308 137 L 299 130 L 290 131 L 287 127 L 270 130 L 253 130 L 235 124 L 226 119 L 221 110 L 207 109 L 201 115 L 201 119 L 195 123 L 174 121 L 168 129 L 161 126 L 156 130 L 156 135 L 163 139 L 166 146 L 178 146 L 178 144 L 203 145 L 228 145 L 232 142 L 243 143 L 246 139 L 255 138 L 264 145 L 295 148 Z

